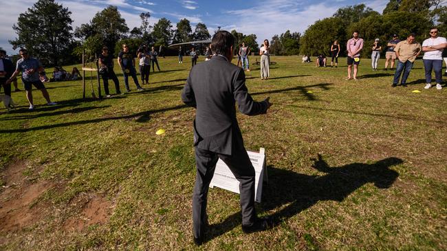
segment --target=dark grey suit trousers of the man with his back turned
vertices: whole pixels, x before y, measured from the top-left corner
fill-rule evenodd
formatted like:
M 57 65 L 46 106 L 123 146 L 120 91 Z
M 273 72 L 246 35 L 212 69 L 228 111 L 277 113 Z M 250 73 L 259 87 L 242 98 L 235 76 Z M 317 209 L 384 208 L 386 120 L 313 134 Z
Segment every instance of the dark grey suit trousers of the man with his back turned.
M 243 145 L 237 148 L 239 149 L 232 156 L 229 156 L 195 147 L 195 163 L 197 166 L 193 192 L 193 234 L 195 238 L 203 237 L 204 234 L 204 226 L 207 222 L 208 187 L 219 158 L 230 167 L 230 170 L 240 182 L 242 224 L 244 226 L 254 224 L 256 218 L 254 209 L 254 168 Z

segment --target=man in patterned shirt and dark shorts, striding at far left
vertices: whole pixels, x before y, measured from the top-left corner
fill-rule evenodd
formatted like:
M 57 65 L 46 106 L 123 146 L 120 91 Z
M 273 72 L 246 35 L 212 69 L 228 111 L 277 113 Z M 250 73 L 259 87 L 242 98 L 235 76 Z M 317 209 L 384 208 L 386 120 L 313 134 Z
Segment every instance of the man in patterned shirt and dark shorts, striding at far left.
M 16 71 L 12 73 L 12 76 L 6 81 L 6 84 L 10 84 L 12 80 L 14 80 L 14 77 L 17 77 L 17 75 L 22 72 L 22 82 L 26 91 L 26 98 L 30 103 L 29 109 L 34 109 L 32 86 L 36 87 L 38 90 L 41 90 L 43 97 L 47 100 L 48 106 L 54 106 L 56 103 L 51 101 L 50 95 L 41 82 L 39 76 L 39 72 L 44 70 L 41 62 L 36 60 L 36 58 L 31 58 L 26 49 L 20 49 L 19 53 L 22 58 L 17 60 Z

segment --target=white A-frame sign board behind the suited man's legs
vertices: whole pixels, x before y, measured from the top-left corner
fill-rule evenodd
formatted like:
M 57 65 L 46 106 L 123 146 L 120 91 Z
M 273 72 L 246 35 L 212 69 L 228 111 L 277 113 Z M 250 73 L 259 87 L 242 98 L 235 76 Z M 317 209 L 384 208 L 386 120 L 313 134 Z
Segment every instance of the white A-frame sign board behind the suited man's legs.
M 265 168 L 265 150 L 260 148 L 259 152 L 247 151 L 254 167 L 254 201 L 260 203 L 262 195 L 262 184 L 265 179 L 267 182 L 267 169 Z M 220 187 L 235 193 L 239 192 L 239 181 L 236 180 L 228 166 L 219 158 L 217 161 L 214 176 L 210 183 L 210 187 Z

